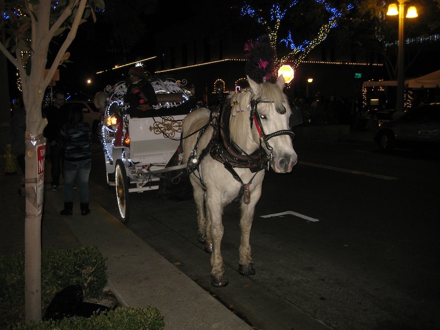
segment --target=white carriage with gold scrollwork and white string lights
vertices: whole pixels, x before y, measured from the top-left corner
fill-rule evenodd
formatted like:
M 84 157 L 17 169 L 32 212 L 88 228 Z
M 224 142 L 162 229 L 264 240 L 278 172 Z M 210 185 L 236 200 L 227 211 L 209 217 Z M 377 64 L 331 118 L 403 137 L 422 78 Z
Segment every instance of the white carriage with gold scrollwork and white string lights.
M 143 118 L 127 114 L 125 82 L 105 89 L 102 144 L 107 182 L 115 186 L 122 222 L 130 218 L 130 193 L 158 189 L 160 174 L 186 168 L 186 163 L 167 164 L 179 146 L 183 119 L 195 107 L 194 99 L 182 83 L 171 79 L 154 80 L 152 86 L 158 104 Z

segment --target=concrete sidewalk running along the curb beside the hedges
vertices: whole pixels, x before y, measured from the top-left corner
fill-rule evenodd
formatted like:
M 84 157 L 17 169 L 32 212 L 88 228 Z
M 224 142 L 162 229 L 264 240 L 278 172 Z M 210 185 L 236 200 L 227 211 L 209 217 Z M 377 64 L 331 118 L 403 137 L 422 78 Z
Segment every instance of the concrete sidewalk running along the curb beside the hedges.
M 48 163 L 46 183 L 50 180 Z M 4 174 L 4 160 L 0 166 L 0 189 L 5 192 L 0 198 L 0 254 L 7 255 L 24 250 L 25 199 L 18 194 L 20 169 L 17 174 Z M 92 200 L 92 212 L 81 216 L 76 191 L 73 216 L 61 216 L 63 186 L 52 192 L 47 183 L 45 189 L 43 249 L 97 246 L 107 258 L 109 286 L 120 305 L 158 308 L 169 330 L 252 329 L 99 204 Z

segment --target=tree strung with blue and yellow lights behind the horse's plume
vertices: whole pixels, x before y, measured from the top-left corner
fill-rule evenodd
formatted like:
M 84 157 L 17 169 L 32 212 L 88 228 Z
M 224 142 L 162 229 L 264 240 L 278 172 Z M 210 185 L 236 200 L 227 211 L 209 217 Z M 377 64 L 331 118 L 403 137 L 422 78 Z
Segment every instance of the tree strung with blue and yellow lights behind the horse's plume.
M 286 62 L 291 63 L 292 67 L 299 66 L 310 51 L 327 38 L 343 15 L 352 9 L 352 5 L 336 7 L 325 0 L 293 0 L 269 5 L 261 2 L 258 9 L 245 4 L 241 13 L 264 27 L 275 49 L 275 67 Z M 291 26 L 296 30 L 292 30 Z M 285 49 L 281 49 L 283 44 Z

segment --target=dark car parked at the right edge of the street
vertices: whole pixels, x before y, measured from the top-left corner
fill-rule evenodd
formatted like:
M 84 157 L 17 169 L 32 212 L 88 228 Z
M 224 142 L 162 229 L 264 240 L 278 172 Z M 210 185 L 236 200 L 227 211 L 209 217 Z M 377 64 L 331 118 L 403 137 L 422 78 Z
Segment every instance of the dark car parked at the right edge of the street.
M 396 146 L 440 147 L 440 103 L 409 110 L 396 120 L 380 124 L 374 141 L 383 151 Z

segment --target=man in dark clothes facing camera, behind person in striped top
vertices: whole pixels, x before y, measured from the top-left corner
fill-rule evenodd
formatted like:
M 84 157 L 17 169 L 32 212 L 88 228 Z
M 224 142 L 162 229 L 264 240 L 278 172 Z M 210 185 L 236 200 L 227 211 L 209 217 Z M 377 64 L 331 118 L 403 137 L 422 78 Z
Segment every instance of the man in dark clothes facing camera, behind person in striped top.
M 43 110 L 47 119 L 44 128 L 44 137 L 47 139 L 50 153 L 52 191 L 57 191 L 60 185 L 60 175 L 63 169 L 63 150 L 56 145 L 55 140 L 63 125 L 67 123 L 67 109 L 64 105 L 66 100 L 64 92 L 58 90 L 54 94 L 53 104 Z

